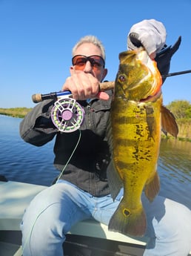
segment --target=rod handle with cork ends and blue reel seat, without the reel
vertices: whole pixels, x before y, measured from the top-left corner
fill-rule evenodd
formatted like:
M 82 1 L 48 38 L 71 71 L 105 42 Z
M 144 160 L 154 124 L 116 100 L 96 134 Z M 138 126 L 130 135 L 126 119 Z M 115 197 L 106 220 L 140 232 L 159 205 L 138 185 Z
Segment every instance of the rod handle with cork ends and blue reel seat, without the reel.
M 99 91 L 107 91 L 107 90 L 113 89 L 114 85 L 115 85 L 115 82 L 101 82 L 99 84 L 99 87 L 100 87 Z M 33 94 L 32 100 L 34 103 L 38 103 L 38 102 L 42 102 L 44 99 L 57 99 L 59 96 L 72 97 L 72 94 L 70 91 L 60 91 L 60 92 L 47 93 L 47 94 L 36 93 L 36 94 Z

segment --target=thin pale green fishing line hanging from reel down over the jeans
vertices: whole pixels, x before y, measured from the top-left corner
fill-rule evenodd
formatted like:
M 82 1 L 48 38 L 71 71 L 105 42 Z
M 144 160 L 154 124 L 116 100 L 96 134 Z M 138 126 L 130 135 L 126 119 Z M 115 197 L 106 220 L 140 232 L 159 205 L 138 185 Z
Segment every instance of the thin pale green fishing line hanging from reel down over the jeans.
M 61 174 L 59 174 L 56 183 L 57 183 L 58 180 L 61 178 L 62 174 L 64 174 L 64 171 L 65 171 L 65 169 L 67 168 L 67 165 L 70 163 L 70 160 L 71 160 L 71 158 L 73 157 L 73 154 L 75 153 L 76 148 L 78 147 L 78 144 L 79 144 L 79 142 L 80 142 L 80 140 L 81 140 L 81 130 L 78 129 L 78 131 L 79 131 L 79 136 L 78 136 L 78 141 L 76 142 L 76 146 L 75 146 L 75 148 L 73 149 L 73 152 L 72 152 L 72 154 L 70 155 L 69 159 L 67 160 L 67 163 L 64 165 L 64 168 L 61 170 Z M 55 188 L 54 188 L 54 189 L 55 189 Z M 52 191 L 53 191 L 53 190 L 52 190 Z M 51 192 L 52 192 L 52 191 L 51 191 Z M 50 196 L 50 194 L 49 194 L 49 196 Z M 36 219 L 35 219 L 34 222 L 33 222 L 32 227 L 31 227 L 31 229 L 30 229 L 29 234 L 27 234 L 27 238 L 26 238 L 26 240 L 25 240 L 24 246 L 22 246 L 22 249 L 21 249 L 21 250 L 22 250 L 22 253 L 24 252 L 24 249 L 25 249 L 25 247 L 27 246 L 27 243 L 28 243 L 29 240 L 30 240 L 31 234 L 32 234 L 32 232 L 33 232 L 34 226 L 36 225 L 36 221 L 38 220 L 38 217 L 40 217 L 41 214 L 42 214 L 44 211 L 46 211 L 46 210 L 47 210 L 50 206 L 52 206 L 53 204 L 54 204 L 54 203 L 48 205 L 46 208 L 44 208 L 43 210 L 41 210 L 41 212 L 37 215 Z M 32 252 L 31 252 L 31 255 L 32 255 Z

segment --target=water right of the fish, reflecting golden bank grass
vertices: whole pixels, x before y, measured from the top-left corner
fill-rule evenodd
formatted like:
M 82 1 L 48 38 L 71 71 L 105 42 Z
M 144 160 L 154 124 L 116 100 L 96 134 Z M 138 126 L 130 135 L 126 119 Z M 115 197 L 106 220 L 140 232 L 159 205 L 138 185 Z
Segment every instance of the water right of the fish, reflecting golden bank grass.
M 191 209 L 191 142 L 162 140 L 158 174 L 161 194 Z

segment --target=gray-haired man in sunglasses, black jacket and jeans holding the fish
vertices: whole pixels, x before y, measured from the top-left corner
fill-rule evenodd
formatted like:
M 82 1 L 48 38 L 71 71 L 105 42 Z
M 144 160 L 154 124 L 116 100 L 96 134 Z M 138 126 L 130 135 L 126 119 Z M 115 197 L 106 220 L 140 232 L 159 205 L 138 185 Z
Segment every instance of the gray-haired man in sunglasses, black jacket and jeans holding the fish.
M 161 22 L 144 20 L 131 28 L 127 46 L 143 45 L 165 74 L 180 43 L 166 47 L 165 39 Z M 50 117 L 53 100 L 38 104 L 21 122 L 21 137 L 33 145 L 44 145 L 56 136 L 54 164 L 61 171 L 56 184 L 41 191 L 24 214 L 23 256 L 64 255 L 62 243 L 71 227 L 91 217 L 108 224 L 123 195 L 121 191 L 113 202 L 107 183 L 110 150 L 106 128 L 112 91 L 99 92 L 99 82 L 107 75 L 103 45 L 95 36 L 85 36 L 73 47 L 72 62 L 71 76 L 62 90 L 71 91 L 84 108 L 81 128 L 59 132 Z M 144 256 L 186 256 L 191 249 L 190 210 L 164 197 L 148 203 L 143 195 L 143 205 L 149 237 Z

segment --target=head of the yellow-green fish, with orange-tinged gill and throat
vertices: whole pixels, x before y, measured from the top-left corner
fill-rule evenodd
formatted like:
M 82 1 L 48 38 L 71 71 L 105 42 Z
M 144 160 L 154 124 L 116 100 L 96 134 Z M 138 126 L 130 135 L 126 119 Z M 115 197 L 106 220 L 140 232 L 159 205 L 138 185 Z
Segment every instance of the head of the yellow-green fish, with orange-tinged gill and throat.
M 157 62 L 145 50 L 132 50 L 120 54 L 116 82 L 117 95 L 127 100 L 148 102 L 161 93 L 162 78 Z

